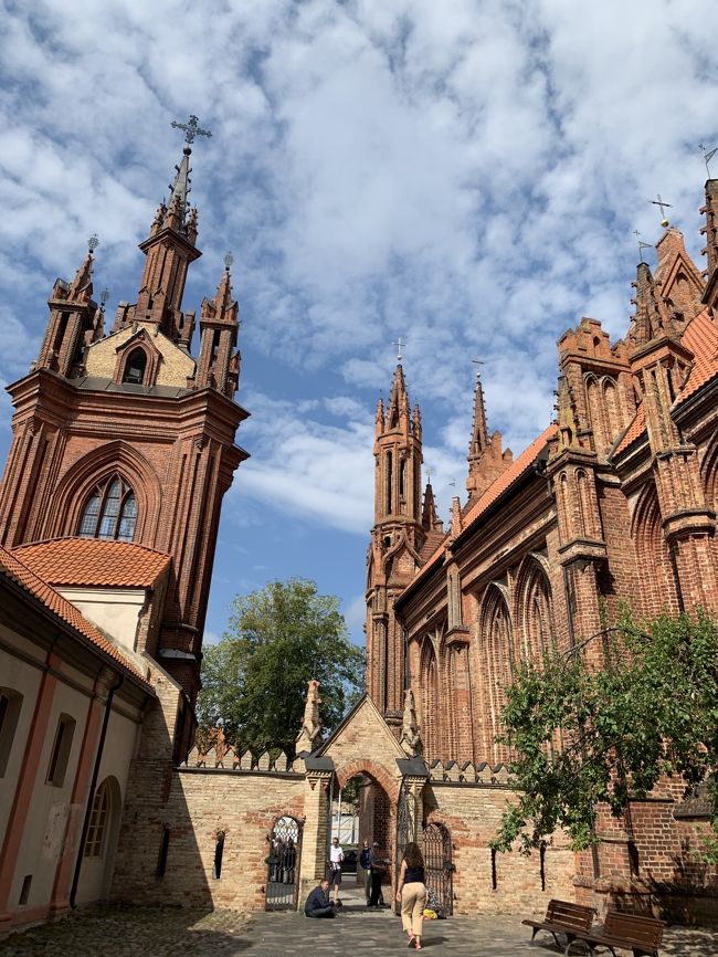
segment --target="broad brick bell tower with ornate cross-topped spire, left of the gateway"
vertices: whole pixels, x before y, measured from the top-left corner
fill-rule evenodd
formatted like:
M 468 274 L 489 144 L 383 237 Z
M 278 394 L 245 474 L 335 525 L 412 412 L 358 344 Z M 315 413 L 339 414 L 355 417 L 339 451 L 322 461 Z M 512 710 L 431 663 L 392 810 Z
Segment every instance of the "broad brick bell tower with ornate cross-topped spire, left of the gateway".
M 193 704 L 220 509 L 247 458 L 234 443 L 247 413 L 234 401 L 230 256 L 202 304 L 199 359 L 191 355 L 194 312 L 182 299 L 201 253 L 190 156 L 194 138 L 209 134 L 194 116 L 180 128 L 186 144 L 169 201 L 139 245 L 136 302 L 119 303 L 106 335 L 104 305 L 93 298 L 93 239 L 73 282 L 55 281 L 36 362 L 9 387 L 13 437 L 0 484 L 0 543 L 12 549 L 71 539 L 80 564 L 88 538 L 141 546 L 138 560 L 142 549 L 169 556 L 166 592 L 152 596 L 157 633 L 144 646 Z

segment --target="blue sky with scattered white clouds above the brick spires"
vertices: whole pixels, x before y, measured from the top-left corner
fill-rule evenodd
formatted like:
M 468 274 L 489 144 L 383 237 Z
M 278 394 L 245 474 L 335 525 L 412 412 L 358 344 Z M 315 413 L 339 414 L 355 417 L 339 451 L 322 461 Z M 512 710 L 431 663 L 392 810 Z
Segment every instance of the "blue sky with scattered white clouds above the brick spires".
M 473 368 L 518 454 L 551 418 L 556 339 L 621 336 L 661 192 L 699 267 L 718 146 L 718 7 L 689 0 L 2 2 L 0 382 L 35 358 L 55 276 L 96 232 L 95 288 L 134 302 L 137 243 L 181 137 L 198 244 L 186 308 L 234 254 L 239 442 L 208 629 L 302 575 L 362 621 L 373 412 L 398 336 L 444 517 Z M 718 164 L 716 165 L 718 175 Z M 10 439 L 0 399 L 0 455 Z M 455 482 L 455 486 L 452 486 Z

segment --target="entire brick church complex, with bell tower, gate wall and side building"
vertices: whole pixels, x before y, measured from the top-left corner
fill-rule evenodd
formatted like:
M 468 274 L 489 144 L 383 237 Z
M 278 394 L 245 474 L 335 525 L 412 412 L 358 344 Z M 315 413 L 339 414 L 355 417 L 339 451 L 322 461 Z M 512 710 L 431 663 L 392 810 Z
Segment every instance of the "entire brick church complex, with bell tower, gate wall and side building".
M 183 309 L 200 255 L 194 133 L 192 118 L 140 244 L 136 302 L 106 330 L 91 249 L 72 282 L 56 280 L 38 360 L 9 387 L 0 933 L 98 900 L 295 907 L 324 874 L 334 798 L 357 777 L 365 833 L 394 861 L 423 840 L 447 914 L 550 896 L 646 906 L 657 886 L 712 906 L 716 877 L 690 859 L 700 809 L 679 789 L 606 820 L 590 859 L 560 834 L 529 862 L 490 841 L 511 799 L 495 736 L 513 663 L 549 638 L 568 648 L 600 632 L 603 602 L 648 614 L 718 603 L 718 180 L 706 185 L 707 280 L 667 229 L 656 270 L 638 266 L 625 338 L 611 345 L 582 319 L 560 340 L 556 421 L 516 459 L 489 434 L 477 382 L 468 495 L 447 529 L 397 368 L 376 420 L 367 693 L 325 735 L 310 683 L 294 759 L 240 754 L 221 732 L 200 753 L 204 613 L 247 413 L 229 257 L 194 355 Z

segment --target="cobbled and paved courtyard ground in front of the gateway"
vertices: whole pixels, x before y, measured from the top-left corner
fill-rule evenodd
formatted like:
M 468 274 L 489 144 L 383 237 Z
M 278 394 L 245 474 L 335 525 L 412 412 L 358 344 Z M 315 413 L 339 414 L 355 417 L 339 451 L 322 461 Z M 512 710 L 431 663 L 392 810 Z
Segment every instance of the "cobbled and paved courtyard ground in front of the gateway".
M 547 957 L 558 954 L 545 936 L 529 944 L 520 916 L 452 917 L 426 922 L 424 950 L 431 957 Z M 668 928 L 662 957 L 717 957 L 718 932 Z M 179 908 L 97 907 L 52 925 L 15 934 L 0 944 L 0 957 L 341 957 L 414 953 L 405 947 L 399 918 L 388 911 L 348 906 L 334 921 L 302 914 L 244 916 L 232 911 L 200 914 Z M 580 954 L 577 948 L 574 953 Z

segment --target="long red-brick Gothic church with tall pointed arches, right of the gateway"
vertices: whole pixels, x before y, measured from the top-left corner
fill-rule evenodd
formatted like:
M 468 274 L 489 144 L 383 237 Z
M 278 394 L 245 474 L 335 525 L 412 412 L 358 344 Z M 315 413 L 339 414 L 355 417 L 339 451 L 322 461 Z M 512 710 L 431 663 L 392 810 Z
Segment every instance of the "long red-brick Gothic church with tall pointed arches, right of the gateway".
M 446 529 L 431 484 L 420 494 L 421 417 L 401 365 L 379 402 L 367 687 L 397 733 L 411 691 L 430 768 L 506 761 L 496 737 L 516 664 L 552 641 L 587 642 L 599 661 L 602 614 L 615 620 L 621 602 L 648 617 L 718 609 L 718 180 L 701 212 L 706 275 L 666 229 L 655 271 L 637 267 L 625 337 L 611 344 L 583 318 L 559 340 L 556 419 L 516 459 L 489 434 L 477 378 L 467 497 Z M 576 893 L 599 905 L 616 894 L 646 905 L 656 887 L 715 900 L 682 797 L 666 782 L 625 819 L 603 817 Z M 424 819 L 471 843 L 464 807 L 425 807 Z

